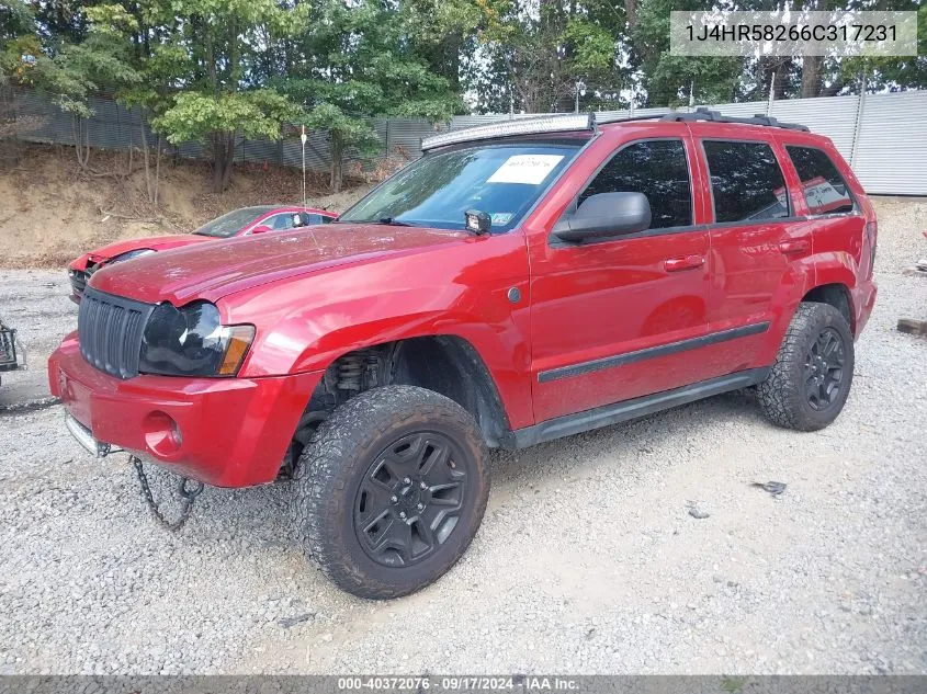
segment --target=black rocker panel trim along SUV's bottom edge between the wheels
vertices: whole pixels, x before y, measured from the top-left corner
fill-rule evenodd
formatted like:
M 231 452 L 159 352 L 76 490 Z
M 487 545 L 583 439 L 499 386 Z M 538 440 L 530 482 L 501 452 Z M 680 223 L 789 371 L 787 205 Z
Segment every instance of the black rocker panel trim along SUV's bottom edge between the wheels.
M 579 434 L 584 431 L 609 426 L 654 412 L 688 405 L 722 392 L 755 386 L 765 380 L 769 368 L 750 368 L 726 376 L 702 380 L 690 386 L 664 390 L 654 395 L 623 400 L 614 405 L 598 407 L 577 414 L 550 419 L 533 426 L 525 426 L 508 434 L 501 445 L 506 448 L 525 448 L 545 441 Z

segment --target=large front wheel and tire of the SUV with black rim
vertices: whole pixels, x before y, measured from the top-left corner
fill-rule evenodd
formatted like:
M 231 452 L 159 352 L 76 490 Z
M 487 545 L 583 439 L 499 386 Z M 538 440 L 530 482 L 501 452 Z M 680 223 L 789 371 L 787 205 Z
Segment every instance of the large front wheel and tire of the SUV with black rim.
M 372 599 L 443 576 L 489 497 L 473 418 L 414 386 L 374 388 L 336 409 L 303 451 L 295 485 L 306 551 L 341 589 Z

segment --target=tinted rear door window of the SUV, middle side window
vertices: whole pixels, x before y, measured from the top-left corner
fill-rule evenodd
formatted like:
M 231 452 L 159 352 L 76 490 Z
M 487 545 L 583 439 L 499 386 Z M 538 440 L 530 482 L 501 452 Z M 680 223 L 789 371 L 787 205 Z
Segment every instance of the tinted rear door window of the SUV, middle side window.
M 760 221 L 789 216 L 789 193 L 766 143 L 704 140 L 714 220 Z

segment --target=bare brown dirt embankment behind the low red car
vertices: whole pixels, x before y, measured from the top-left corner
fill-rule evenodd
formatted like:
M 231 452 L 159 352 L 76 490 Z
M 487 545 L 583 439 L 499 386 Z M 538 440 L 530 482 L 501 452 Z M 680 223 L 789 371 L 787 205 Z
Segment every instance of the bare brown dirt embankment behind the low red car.
M 94 151 L 90 166 L 100 173 L 81 171 L 70 147 L 30 146 L 15 168 L 0 168 L 0 268 L 60 268 L 120 239 L 192 231 L 237 207 L 301 197 L 296 169 L 236 167 L 231 186 L 216 194 L 207 163 L 166 158 L 156 208 L 147 202 L 138 156 L 128 175 L 126 152 Z M 329 194 L 325 179 L 309 173 L 313 207 L 341 212 L 369 190 L 348 183 Z

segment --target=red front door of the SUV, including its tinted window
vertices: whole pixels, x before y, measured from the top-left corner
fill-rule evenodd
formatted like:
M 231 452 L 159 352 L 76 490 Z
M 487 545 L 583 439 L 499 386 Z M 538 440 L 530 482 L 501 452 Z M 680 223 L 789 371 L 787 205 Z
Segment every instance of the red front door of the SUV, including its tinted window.
M 539 422 L 702 379 L 709 234 L 696 225 L 692 140 L 678 132 L 609 147 L 564 213 L 596 193 L 640 192 L 649 229 L 581 244 L 529 237 Z

